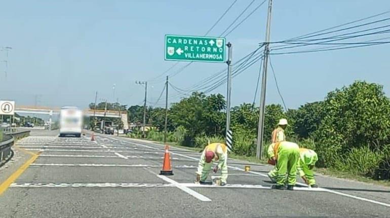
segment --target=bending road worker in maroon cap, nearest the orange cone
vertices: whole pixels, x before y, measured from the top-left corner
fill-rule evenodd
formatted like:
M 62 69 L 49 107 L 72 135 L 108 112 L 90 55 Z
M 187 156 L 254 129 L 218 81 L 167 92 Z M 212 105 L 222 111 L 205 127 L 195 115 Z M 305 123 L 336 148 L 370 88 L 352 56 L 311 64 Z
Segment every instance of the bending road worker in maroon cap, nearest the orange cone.
M 204 184 L 207 176 L 214 162 L 218 161 L 218 165 L 213 169 L 214 173 L 221 170 L 221 186 L 226 185 L 227 179 L 227 147 L 223 143 L 211 143 L 206 146 L 205 150 L 201 155 L 197 170 L 197 182 Z

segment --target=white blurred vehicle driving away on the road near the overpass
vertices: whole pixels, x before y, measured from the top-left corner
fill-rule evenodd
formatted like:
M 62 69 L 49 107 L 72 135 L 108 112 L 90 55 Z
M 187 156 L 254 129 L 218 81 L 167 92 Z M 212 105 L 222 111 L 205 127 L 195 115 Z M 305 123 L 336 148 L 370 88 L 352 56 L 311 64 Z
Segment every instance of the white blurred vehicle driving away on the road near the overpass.
M 65 106 L 60 112 L 60 137 L 66 135 L 81 136 L 83 127 L 83 111 L 78 107 Z

